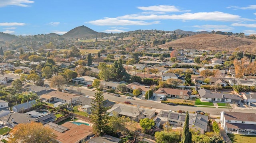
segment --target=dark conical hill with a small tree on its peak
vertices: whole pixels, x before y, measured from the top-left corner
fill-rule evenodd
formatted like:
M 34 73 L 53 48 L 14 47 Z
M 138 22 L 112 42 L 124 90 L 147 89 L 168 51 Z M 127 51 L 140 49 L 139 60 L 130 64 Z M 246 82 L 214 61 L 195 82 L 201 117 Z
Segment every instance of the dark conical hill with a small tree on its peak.
M 103 33 L 104 35 L 106 33 Z M 74 29 L 71 29 L 67 33 L 63 34 L 62 37 L 66 39 L 76 39 L 76 38 L 95 38 L 96 35 L 101 35 L 101 33 L 98 33 L 86 26 L 79 26 Z

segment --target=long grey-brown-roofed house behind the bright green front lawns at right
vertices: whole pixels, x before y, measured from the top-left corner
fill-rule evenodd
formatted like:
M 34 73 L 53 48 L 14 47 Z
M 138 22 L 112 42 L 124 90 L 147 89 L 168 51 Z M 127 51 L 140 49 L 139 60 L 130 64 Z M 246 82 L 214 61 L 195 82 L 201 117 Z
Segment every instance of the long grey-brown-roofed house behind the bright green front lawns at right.
M 243 100 L 236 94 L 227 94 L 227 93 L 212 93 L 207 89 L 197 90 L 200 96 L 201 101 L 216 101 L 216 102 L 238 102 L 240 103 Z

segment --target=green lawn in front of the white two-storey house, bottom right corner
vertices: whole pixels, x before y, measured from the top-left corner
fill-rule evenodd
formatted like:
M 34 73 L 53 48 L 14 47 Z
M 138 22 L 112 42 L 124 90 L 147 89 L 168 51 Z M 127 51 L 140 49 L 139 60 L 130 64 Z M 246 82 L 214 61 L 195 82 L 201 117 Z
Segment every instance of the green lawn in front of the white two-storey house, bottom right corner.
M 255 143 L 255 135 L 238 135 L 238 134 L 228 134 L 228 137 L 232 143 Z

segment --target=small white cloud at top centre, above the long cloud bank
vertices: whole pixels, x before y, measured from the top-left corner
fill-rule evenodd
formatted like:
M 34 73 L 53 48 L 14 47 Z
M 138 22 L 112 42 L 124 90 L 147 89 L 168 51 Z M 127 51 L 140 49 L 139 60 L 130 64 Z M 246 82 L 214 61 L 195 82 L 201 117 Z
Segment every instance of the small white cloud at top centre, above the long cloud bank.
M 168 5 L 156 5 L 156 6 L 138 6 L 140 10 L 145 11 L 155 11 L 155 12 L 189 12 L 190 10 L 180 10 L 179 7 L 176 6 L 168 6 Z

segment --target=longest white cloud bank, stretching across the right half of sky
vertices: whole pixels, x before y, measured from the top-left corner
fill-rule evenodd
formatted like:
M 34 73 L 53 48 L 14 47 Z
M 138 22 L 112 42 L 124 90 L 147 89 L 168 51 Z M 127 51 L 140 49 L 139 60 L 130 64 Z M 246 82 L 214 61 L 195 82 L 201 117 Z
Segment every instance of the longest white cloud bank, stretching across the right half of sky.
M 233 22 L 241 20 L 238 15 L 227 14 L 223 12 L 198 12 L 198 13 L 185 13 L 180 15 L 140 15 L 131 14 L 117 17 L 119 19 L 131 19 L 131 20 L 206 20 L 206 21 L 222 21 Z

